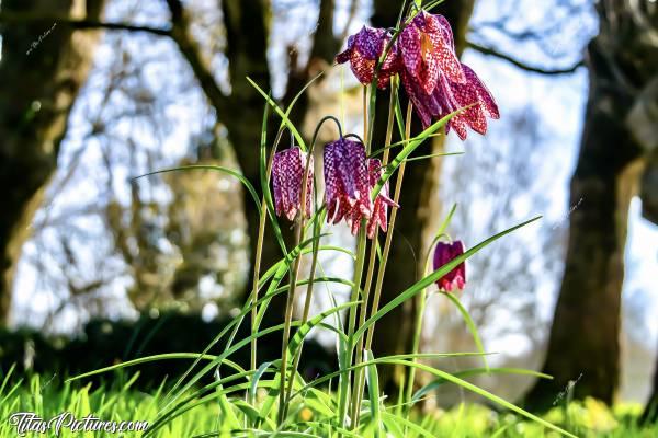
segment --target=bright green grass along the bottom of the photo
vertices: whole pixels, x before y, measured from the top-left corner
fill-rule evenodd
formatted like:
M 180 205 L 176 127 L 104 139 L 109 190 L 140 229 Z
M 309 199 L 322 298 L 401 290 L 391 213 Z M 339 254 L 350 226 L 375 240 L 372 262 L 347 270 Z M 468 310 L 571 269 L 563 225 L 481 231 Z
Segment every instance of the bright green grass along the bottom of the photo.
M 143 420 L 155 423 L 158 411 L 163 407 L 162 388 L 150 393 L 140 392 L 133 388 L 138 374 L 124 384 L 107 385 L 61 382 L 58 377 L 47 379 L 32 376 L 16 383 L 5 384 L 0 392 L 0 437 L 16 437 L 15 426 L 10 425 L 9 417 L 16 412 L 34 412 L 45 419 L 49 419 L 63 412 L 72 413 L 76 418 L 93 414 L 103 420 Z M 118 381 L 118 380 L 117 380 Z M 262 394 L 260 394 L 262 396 Z M 236 397 L 239 400 L 241 397 Z M 218 403 L 202 404 L 181 416 L 169 422 L 159 429 L 157 437 L 194 437 L 208 433 L 218 436 L 218 418 L 220 418 Z M 636 418 L 640 413 L 638 405 L 619 405 L 613 410 L 594 400 L 571 402 L 568 408 L 556 407 L 548 412 L 544 418 L 560 425 L 579 437 L 610 437 L 635 438 L 656 437 L 658 427 L 642 428 Z M 314 397 L 306 397 L 291 410 L 298 424 L 306 424 L 306 429 L 299 435 L 280 434 L 277 436 L 320 436 L 329 434 L 322 408 Z M 399 422 L 395 407 L 384 406 L 379 413 L 385 427 L 404 428 Z M 398 419 L 397 425 L 390 419 Z M 430 434 L 433 437 L 557 437 L 555 431 L 546 431 L 535 422 L 524 420 L 522 417 L 508 413 L 495 412 L 479 404 L 461 404 L 449 411 L 438 410 L 432 414 L 422 415 L 418 412 L 411 415 L 412 425 L 407 427 L 406 437 L 421 437 Z M 422 433 L 420 430 L 423 430 Z M 141 433 L 127 433 L 126 437 L 140 437 Z M 395 434 L 395 431 L 393 433 Z M 27 434 L 27 436 L 54 436 L 53 434 Z M 67 428 L 61 429 L 60 437 L 101 437 L 121 436 L 104 433 L 73 433 Z M 211 436 L 211 435 L 208 435 Z M 227 435 L 228 436 L 228 435 Z M 236 436 L 236 435 L 230 435 Z M 246 435 L 243 435 L 246 436 Z

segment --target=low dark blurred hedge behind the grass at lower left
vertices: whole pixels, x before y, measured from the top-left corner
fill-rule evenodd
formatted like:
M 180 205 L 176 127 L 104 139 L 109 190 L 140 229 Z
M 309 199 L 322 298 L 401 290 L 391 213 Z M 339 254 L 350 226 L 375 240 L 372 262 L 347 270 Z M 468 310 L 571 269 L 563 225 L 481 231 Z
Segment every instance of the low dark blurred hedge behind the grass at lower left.
M 0 328 L 0 381 L 15 364 L 21 377 L 38 372 L 44 379 L 50 374 L 75 376 L 110 365 L 163 353 L 201 353 L 222 328 L 232 319 L 205 322 L 200 315 L 162 313 L 157 318 L 143 314 L 137 321 L 92 320 L 82 332 L 73 337 L 45 337 L 42 333 L 19 328 Z M 237 339 L 249 335 L 247 320 L 240 327 Z M 215 345 L 209 354 L 225 349 L 226 338 Z M 259 364 L 281 357 L 281 332 L 262 337 L 258 344 Z M 249 348 L 230 357 L 242 367 L 249 367 Z M 151 388 L 175 380 L 192 360 L 161 360 L 139 365 L 132 369 L 140 372 L 137 385 Z M 315 341 L 307 341 L 300 361 L 300 370 L 307 377 L 316 377 L 338 367 L 336 355 Z M 229 369 L 227 368 L 227 372 Z M 93 381 L 109 381 L 115 373 L 95 377 Z M 208 376 L 212 379 L 212 376 Z M 207 382 L 207 380 L 206 380 Z M 204 381 L 202 381 L 204 383 Z

